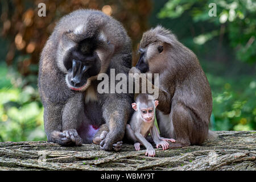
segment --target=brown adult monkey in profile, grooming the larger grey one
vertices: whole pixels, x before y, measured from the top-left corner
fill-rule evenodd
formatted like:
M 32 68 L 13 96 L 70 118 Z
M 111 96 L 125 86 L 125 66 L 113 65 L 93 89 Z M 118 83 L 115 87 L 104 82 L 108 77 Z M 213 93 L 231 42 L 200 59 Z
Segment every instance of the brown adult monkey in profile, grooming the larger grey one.
M 212 93 L 195 53 L 171 31 L 158 26 L 144 32 L 141 57 L 130 73 L 159 73 L 156 120 L 161 137 L 174 138 L 170 148 L 201 144 L 208 137 Z M 151 82 L 147 81 L 147 84 Z

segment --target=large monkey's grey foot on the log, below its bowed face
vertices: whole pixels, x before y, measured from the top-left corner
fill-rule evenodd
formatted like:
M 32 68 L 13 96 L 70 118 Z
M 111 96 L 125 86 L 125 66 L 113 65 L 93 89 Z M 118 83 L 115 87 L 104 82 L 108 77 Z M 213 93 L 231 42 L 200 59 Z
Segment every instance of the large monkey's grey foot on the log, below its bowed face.
M 61 134 L 63 138 L 61 140 L 67 145 L 75 144 L 76 146 L 82 145 L 82 138 L 79 136 L 75 129 L 64 130 Z

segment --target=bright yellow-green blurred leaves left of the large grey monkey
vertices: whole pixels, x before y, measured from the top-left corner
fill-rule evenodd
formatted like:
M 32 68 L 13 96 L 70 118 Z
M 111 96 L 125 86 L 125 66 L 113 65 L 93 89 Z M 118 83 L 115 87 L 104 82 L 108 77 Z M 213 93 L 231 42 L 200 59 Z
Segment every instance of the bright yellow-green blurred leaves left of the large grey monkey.
M 0 141 L 46 140 L 38 90 L 0 64 Z

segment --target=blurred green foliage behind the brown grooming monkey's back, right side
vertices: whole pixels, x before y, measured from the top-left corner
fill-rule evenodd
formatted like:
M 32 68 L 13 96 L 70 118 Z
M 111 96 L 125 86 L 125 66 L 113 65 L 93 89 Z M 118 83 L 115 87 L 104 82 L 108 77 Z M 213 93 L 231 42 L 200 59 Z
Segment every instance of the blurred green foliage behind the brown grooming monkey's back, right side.
M 212 89 L 212 130 L 256 129 L 255 69 L 248 66 L 256 62 L 255 17 L 255 1 L 169 0 L 155 20 L 199 57 Z

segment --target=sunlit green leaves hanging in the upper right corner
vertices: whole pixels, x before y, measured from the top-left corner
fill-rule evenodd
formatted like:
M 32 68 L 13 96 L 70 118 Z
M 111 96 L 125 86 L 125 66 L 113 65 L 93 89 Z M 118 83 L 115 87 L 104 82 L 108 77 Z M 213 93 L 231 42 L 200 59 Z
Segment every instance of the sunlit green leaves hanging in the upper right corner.
M 209 16 L 212 7 L 216 4 L 216 17 Z M 185 1 L 169 0 L 158 14 L 159 18 L 181 19 L 188 14 L 194 23 L 210 23 L 209 32 L 197 35 L 194 43 L 203 45 L 214 36 L 226 34 L 229 46 L 236 50 L 238 60 L 254 63 L 256 61 L 256 2 L 255 1 Z M 182 22 L 182 21 L 181 21 Z

